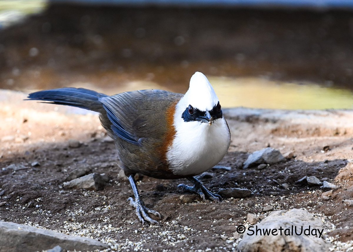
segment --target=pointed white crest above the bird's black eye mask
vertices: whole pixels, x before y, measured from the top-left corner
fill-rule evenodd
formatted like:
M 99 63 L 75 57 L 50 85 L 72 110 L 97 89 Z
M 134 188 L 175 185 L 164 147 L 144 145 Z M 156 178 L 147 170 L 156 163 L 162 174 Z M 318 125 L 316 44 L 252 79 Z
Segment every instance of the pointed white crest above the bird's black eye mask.
M 190 79 L 190 87 L 179 105 L 187 108 L 191 105 L 201 111 L 211 110 L 219 102 L 215 90 L 211 86 L 207 77 L 200 72 L 196 72 Z

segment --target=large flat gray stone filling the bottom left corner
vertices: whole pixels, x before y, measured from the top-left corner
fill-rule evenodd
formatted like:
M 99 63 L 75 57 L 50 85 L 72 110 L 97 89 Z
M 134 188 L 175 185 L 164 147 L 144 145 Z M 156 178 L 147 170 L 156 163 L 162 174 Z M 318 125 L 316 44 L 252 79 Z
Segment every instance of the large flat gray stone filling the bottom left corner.
M 102 242 L 86 237 L 65 235 L 51 230 L 0 221 L 1 251 L 42 251 L 60 244 L 63 250 L 93 251 L 107 249 Z

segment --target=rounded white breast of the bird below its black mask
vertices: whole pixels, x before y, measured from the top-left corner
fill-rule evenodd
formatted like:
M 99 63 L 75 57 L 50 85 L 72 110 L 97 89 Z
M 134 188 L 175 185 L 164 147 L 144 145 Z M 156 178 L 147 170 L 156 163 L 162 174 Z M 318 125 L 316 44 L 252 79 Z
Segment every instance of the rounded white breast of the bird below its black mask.
M 213 124 L 174 118 L 177 132 L 167 151 L 170 169 L 178 175 L 197 175 L 215 166 L 226 155 L 230 133 L 224 117 Z

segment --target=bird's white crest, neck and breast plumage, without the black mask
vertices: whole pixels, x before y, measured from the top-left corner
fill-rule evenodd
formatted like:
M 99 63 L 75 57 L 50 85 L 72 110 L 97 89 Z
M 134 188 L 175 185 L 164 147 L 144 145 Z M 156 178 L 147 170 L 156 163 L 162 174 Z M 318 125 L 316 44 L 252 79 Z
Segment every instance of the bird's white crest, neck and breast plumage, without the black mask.
M 211 110 L 219 102 L 208 79 L 196 72 L 190 88 L 180 99 L 174 114 L 175 138 L 167 150 L 169 168 L 174 174 L 192 176 L 205 172 L 226 155 L 230 133 L 224 117 L 212 124 L 201 121 L 184 121 L 181 117 L 189 105 L 201 110 Z

